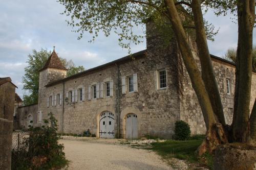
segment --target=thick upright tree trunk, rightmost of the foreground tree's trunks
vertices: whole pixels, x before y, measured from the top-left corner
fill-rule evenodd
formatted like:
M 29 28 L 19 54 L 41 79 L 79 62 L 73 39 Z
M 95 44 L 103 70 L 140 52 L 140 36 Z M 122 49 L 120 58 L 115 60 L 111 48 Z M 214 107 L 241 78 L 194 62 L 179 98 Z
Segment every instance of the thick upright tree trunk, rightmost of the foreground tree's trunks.
M 246 142 L 248 137 L 249 106 L 252 75 L 252 31 L 255 19 L 255 1 L 238 1 L 238 62 L 236 96 L 233 116 L 233 140 Z

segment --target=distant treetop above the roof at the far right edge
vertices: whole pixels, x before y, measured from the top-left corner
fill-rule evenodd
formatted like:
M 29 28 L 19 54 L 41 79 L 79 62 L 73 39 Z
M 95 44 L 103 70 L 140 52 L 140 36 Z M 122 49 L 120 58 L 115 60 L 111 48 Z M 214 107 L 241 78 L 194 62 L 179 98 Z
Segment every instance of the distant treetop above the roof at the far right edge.
M 237 48 L 229 48 L 225 53 L 225 59 L 236 63 Z M 256 72 L 256 45 L 253 45 L 252 50 L 252 70 Z

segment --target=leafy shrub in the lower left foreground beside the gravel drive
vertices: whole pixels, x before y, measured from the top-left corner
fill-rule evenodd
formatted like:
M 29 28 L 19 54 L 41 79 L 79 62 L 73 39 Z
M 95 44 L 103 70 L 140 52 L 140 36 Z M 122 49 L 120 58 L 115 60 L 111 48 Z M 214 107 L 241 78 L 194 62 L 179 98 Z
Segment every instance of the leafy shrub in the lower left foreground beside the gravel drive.
M 18 155 L 18 160 L 12 161 L 12 169 L 57 169 L 67 165 L 59 139 L 57 119 L 50 113 L 45 126 L 30 127 L 29 137 L 22 141 L 19 151 L 12 151 Z

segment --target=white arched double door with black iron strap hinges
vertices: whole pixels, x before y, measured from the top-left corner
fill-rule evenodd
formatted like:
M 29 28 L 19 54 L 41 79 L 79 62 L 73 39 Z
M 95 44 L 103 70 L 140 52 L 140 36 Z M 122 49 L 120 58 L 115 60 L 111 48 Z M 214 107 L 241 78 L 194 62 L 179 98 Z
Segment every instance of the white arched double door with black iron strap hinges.
M 115 118 L 114 114 L 105 111 L 99 116 L 99 137 L 100 138 L 114 138 L 115 137 Z

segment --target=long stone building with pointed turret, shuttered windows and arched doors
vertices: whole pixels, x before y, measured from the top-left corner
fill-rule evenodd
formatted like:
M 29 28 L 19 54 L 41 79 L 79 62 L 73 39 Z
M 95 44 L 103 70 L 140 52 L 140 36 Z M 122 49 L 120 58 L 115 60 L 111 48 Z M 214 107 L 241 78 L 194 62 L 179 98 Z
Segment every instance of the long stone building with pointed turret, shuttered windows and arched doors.
M 162 44 L 148 24 L 146 50 L 70 77 L 54 50 L 40 70 L 33 124 L 42 125 L 51 112 L 62 133 L 81 134 L 89 129 L 103 138 L 139 138 L 146 134 L 171 138 L 177 120 L 187 122 L 193 134 L 204 133 L 203 115 L 177 43 L 173 39 L 166 47 Z M 196 44 L 191 42 L 191 46 L 199 63 Z M 231 124 L 235 65 L 213 55 L 211 59 L 225 118 Z M 250 109 L 255 96 L 253 72 Z

